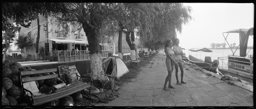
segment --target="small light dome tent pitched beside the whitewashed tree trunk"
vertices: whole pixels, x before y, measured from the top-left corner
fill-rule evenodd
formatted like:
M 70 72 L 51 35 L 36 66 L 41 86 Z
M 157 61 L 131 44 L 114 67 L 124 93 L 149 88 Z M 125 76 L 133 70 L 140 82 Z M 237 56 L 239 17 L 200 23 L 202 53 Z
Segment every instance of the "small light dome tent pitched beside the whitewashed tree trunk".
M 105 58 L 102 67 L 106 75 L 114 75 L 117 79 L 129 72 L 123 60 L 118 56 L 110 56 Z

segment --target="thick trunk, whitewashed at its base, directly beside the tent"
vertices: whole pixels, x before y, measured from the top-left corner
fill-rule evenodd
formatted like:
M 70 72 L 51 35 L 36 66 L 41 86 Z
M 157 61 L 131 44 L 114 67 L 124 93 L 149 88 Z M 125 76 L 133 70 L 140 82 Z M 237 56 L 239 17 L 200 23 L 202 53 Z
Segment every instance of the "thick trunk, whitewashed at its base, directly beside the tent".
M 93 16 L 92 16 L 93 17 Z M 94 23 L 97 23 L 97 28 L 100 26 L 101 21 L 99 19 L 94 18 L 94 22 L 91 23 L 93 26 L 95 26 Z M 105 76 L 105 73 L 102 69 L 102 61 L 101 61 L 101 51 L 100 51 L 100 45 L 99 45 L 99 29 L 96 29 L 95 27 L 92 27 L 88 24 L 82 23 L 83 31 L 86 32 L 89 48 L 91 49 L 90 53 L 90 59 L 91 59 L 91 72 L 90 76 L 94 80 L 102 80 Z

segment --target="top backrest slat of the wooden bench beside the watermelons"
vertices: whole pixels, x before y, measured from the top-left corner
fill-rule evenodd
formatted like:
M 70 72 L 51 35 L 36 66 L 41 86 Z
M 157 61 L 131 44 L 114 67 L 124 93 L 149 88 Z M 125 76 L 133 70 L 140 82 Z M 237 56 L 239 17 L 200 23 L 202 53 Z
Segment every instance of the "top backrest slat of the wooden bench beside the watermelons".
M 54 68 L 54 69 L 44 69 L 44 70 L 36 70 L 36 71 L 22 71 L 20 72 L 20 74 L 22 74 L 22 76 L 27 76 L 27 75 L 36 75 L 36 74 L 43 74 L 43 73 L 51 73 L 51 72 L 57 72 L 58 69 Z

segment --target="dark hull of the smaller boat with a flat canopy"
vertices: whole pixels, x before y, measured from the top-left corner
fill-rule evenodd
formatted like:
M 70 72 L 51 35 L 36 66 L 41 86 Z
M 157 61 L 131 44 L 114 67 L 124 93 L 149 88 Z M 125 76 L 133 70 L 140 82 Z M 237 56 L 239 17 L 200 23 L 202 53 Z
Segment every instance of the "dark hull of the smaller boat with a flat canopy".
M 204 62 L 203 60 L 198 59 L 198 58 L 196 58 L 194 56 L 191 56 L 191 55 L 189 55 L 187 59 L 190 63 L 194 63 L 197 66 L 201 67 L 202 69 L 205 69 L 205 70 L 210 71 L 210 72 L 217 73 L 218 67 L 212 66 L 212 63 Z

